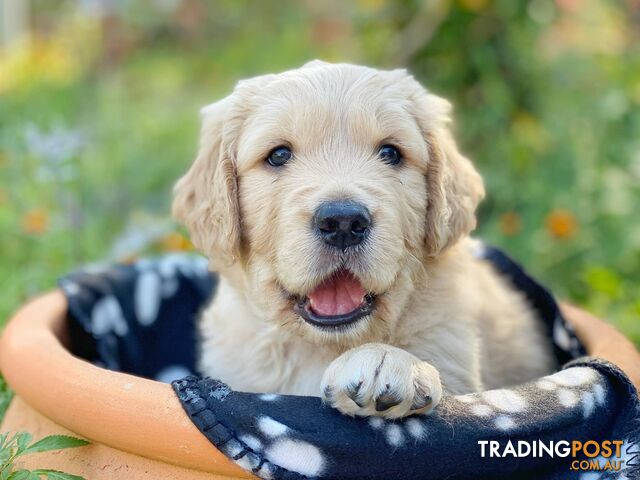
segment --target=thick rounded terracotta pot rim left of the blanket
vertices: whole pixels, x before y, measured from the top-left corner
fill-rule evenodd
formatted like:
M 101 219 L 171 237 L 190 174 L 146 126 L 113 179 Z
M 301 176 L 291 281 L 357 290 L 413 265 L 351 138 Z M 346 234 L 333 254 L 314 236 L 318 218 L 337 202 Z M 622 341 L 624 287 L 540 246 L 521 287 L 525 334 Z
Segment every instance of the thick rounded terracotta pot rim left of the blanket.
M 193 425 L 165 383 L 113 372 L 63 346 L 67 300 L 36 298 L 0 337 L 0 370 L 11 388 L 55 423 L 97 443 L 219 475 L 255 478 Z

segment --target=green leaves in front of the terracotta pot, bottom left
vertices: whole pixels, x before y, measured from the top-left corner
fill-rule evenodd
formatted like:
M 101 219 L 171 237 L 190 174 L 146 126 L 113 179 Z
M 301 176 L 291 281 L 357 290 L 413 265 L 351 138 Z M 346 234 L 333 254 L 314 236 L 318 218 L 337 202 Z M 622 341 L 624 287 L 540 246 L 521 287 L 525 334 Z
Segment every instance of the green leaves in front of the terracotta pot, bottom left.
M 23 455 L 64 450 L 88 445 L 89 442 L 66 435 L 50 435 L 32 443 L 31 434 L 0 434 L 0 480 L 84 480 L 78 475 L 57 470 L 15 470 L 15 461 Z

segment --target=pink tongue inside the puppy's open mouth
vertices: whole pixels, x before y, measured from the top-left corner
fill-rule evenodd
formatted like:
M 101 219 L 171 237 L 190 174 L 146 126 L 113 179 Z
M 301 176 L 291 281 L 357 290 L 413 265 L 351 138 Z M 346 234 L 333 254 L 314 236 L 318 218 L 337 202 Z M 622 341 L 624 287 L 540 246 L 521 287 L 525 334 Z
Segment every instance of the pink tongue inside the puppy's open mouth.
M 309 294 L 311 309 L 318 315 L 345 315 L 364 301 L 365 291 L 349 272 L 340 271 Z

